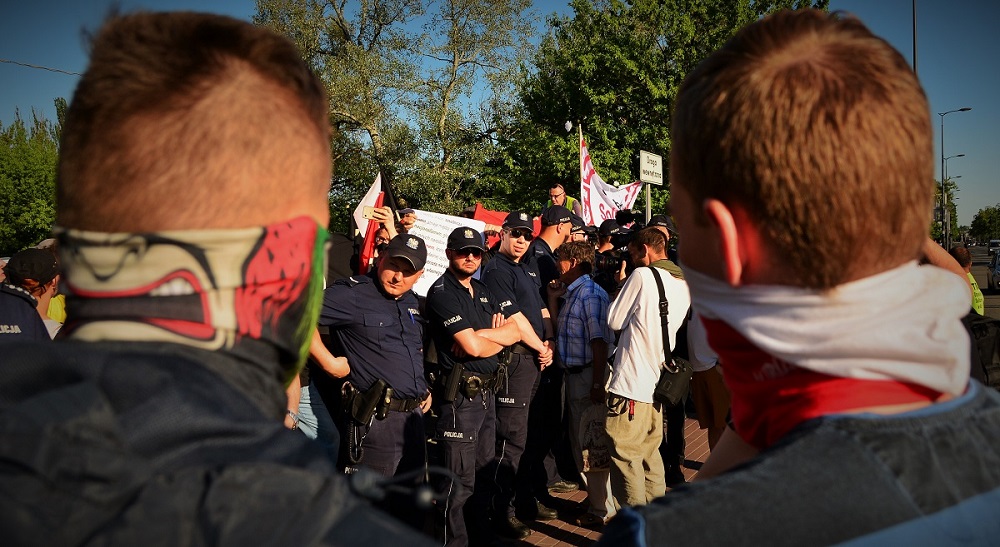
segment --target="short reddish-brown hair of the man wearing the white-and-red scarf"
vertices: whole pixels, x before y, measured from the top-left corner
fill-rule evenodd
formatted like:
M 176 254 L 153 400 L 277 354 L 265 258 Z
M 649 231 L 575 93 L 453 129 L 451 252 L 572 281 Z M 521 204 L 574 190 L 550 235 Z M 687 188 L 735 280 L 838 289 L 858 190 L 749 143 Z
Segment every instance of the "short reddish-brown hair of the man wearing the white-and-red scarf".
M 851 17 L 784 11 L 688 75 L 671 180 L 696 205 L 714 198 L 749 215 L 788 284 L 830 288 L 918 256 L 932 134 L 920 83 L 892 46 Z

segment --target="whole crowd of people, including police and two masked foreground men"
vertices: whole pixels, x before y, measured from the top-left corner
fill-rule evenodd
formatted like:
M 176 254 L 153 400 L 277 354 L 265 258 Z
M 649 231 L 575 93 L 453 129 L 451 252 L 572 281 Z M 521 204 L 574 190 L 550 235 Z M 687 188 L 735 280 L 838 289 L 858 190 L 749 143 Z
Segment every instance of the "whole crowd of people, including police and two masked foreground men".
M 324 279 L 327 112 L 270 30 L 95 34 L 58 252 L 3 269 L 9 542 L 482 544 L 578 485 L 603 545 L 995 541 L 976 287 L 928 248 L 924 92 L 859 21 L 780 12 L 688 75 L 670 216 L 594 229 L 553 185 L 494 249 L 454 229 L 425 298 L 412 210 L 373 213 L 368 273 Z M 689 484 L 685 404 L 654 396 L 675 355 L 712 446 Z

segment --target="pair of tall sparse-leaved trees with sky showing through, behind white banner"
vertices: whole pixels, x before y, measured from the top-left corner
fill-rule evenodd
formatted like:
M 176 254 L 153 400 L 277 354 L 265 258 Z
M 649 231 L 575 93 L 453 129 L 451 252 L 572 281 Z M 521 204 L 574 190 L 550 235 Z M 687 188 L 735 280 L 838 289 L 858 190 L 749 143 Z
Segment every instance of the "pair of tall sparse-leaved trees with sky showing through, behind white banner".
M 529 0 L 258 0 L 326 84 L 331 227 L 378 172 L 408 205 L 457 212 L 512 191 L 490 177 L 494 122 L 528 52 Z

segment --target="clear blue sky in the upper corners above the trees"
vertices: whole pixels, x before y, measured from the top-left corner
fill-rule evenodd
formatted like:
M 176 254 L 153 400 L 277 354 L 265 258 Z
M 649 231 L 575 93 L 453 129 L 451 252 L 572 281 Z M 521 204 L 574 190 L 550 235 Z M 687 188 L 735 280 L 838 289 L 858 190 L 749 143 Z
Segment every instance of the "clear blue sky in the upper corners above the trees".
M 198 10 L 249 19 L 253 0 L 121 0 L 123 9 Z M 82 29 L 103 19 L 106 0 L 2 0 L 0 59 L 82 72 L 86 53 Z M 535 3 L 547 14 L 565 12 L 568 1 Z M 831 10 L 857 15 L 912 62 L 912 0 L 831 0 Z M 965 157 L 948 161 L 957 179 L 959 224 L 976 211 L 1000 203 L 1000 2 L 996 0 L 917 0 L 917 73 L 931 105 L 935 162 L 940 166 L 938 112 L 971 107 L 945 118 L 945 153 Z M 0 63 L 0 122 L 9 124 L 16 109 L 32 108 L 54 117 L 52 101 L 72 97 L 77 76 Z M 940 170 L 940 167 L 938 167 Z

